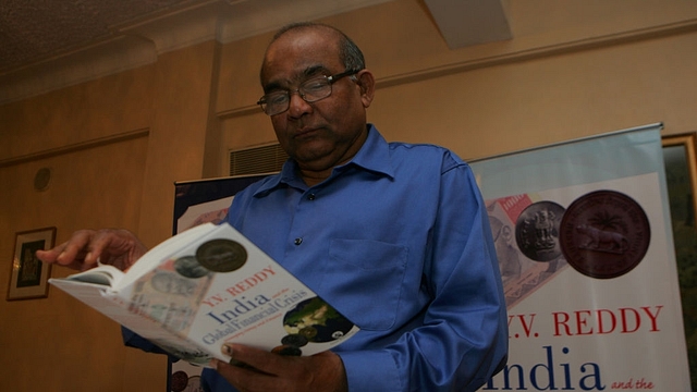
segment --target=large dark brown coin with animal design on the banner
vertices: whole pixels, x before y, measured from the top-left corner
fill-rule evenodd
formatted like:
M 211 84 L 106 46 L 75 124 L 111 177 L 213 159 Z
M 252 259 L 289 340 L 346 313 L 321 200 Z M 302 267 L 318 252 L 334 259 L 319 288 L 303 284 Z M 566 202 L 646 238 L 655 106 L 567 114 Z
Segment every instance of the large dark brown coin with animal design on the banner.
M 597 279 L 621 277 L 646 256 L 651 238 L 648 217 L 632 197 L 616 191 L 596 191 L 566 209 L 560 242 L 566 261 Z

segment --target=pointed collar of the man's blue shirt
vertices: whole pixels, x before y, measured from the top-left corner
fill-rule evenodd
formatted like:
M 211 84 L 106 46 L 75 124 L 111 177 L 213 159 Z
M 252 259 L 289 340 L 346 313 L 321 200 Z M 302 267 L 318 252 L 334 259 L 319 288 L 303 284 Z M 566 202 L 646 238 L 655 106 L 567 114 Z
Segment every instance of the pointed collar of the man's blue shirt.
M 390 161 L 389 144 L 378 132 L 375 125 L 368 124 L 367 126 L 368 137 L 366 138 L 366 142 L 350 162 L 334 168 L 331 174 L 332 176 L 339 175 L 340 172 L 350 167 L 358 167 L 378 175 L 386 175 L 391 179 L 394 177 L 394 168 Z M 255 196 L 262 196 L 272 189 L 280 187 L 282 184 L 294 187 L 302 184 L 302 187 L 306 187 L 298 175 L 297 164 L 292 159 L 285 161 L 281 172 L 271 177 L 270 181 L 262 184 L 255 193 Z

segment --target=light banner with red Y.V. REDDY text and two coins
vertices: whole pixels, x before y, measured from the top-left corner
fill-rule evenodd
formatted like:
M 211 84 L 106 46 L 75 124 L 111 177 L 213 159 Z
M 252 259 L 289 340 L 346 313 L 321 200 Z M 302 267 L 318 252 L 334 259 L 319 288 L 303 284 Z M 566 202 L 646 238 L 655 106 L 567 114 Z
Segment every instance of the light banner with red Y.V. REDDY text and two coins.
M 661 124 L 477 160 L 509 311 L 481 391 L 689 391 Z

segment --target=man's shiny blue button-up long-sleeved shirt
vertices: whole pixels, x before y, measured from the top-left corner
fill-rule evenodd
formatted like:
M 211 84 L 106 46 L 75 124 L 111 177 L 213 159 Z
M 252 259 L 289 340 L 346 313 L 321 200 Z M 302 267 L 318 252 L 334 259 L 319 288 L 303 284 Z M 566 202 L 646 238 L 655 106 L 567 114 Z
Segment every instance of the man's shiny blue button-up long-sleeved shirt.
M 333 351 L 351 391 L 475 391 L 504 364 L 505 302 L 470 168 L 375 126 L 307 186 L 289 161 L 239 193 L 229 222 L 360 328 Z M 205 369 L 207 390 L 234 389 Z

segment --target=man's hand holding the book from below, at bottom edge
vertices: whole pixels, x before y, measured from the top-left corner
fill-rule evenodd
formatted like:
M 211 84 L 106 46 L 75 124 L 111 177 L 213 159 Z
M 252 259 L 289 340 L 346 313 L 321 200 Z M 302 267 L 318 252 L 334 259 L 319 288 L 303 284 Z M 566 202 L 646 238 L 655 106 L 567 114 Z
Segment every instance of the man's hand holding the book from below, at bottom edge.
M 213 359 L 212 366 L 242 392 L 318 391 L 346 392 L 346 372 L 332 352 L 313 356 L 281 356 L 239 344 L 223 345 L 223 354 L 248 366 L 233 366 Z

